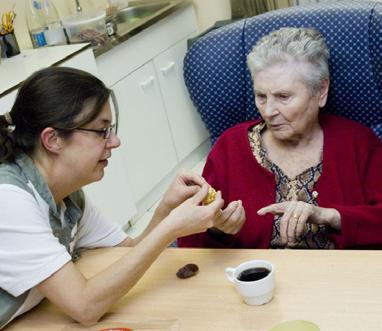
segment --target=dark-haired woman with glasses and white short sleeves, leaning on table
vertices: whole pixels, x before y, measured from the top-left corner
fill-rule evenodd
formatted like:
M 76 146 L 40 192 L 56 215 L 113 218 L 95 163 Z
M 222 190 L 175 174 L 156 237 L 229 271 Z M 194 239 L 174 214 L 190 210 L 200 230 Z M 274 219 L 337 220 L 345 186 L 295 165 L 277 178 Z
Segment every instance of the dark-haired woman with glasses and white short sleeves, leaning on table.
M 101 180 L 120 145 L 111 90 L 69 68 L 34 73 L 0 116 L 0 329 L 44 297 L 73 319 L 95 323 L 178 236 L 213 226 L 220 193 L 202 206 L 208 185 L 179 174 L 138 238 L 108 222 L 81 188 Z M 134 246 L 86 279 L 79 249 Z

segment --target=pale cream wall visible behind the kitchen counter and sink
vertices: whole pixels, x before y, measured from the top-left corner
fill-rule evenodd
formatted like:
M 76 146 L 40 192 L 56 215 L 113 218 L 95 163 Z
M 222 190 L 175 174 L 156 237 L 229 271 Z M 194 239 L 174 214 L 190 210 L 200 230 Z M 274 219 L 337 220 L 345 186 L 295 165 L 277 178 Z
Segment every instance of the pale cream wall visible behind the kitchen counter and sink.
M 74 0 L 51 0 L 56 6 L 61 17 L 75 13 Z M 0 13 L 8 11 L 13 4 L 16 12 L 15 33 L 21 49 L 32 48 L 25 19 L 25 0 L 0 0 Z M 80 0 L 84 10 L 89 8 L 105 8 L 107 0 Z M 217 20 L 230 18 L 230 0 L 194 0 L 201 31 L 207 29 Z

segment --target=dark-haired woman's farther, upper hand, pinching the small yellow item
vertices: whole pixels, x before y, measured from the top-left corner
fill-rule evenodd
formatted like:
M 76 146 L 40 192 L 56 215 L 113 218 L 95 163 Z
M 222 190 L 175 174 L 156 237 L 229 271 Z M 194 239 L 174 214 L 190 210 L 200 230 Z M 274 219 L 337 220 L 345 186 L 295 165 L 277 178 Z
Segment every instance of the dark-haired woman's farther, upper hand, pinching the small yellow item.
M 181 170 L 165 192 L 161 201 L 162 208 L 169 213 L 182 202 L 199 192 L 204 184 L 206 184 L 206 181 L 203 177 L 191 171 Z

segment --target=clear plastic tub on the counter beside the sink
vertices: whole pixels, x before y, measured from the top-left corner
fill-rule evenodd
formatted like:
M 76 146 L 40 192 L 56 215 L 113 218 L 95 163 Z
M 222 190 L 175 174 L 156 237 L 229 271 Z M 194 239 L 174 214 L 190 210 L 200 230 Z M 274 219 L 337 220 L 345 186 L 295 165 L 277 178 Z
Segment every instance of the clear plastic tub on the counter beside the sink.
M 93 10 L 64 18 L 62 23 L 69 42 L 89 42 L 95 49 L 105 45 L 108 42 L 105 17 L 103 10 Z

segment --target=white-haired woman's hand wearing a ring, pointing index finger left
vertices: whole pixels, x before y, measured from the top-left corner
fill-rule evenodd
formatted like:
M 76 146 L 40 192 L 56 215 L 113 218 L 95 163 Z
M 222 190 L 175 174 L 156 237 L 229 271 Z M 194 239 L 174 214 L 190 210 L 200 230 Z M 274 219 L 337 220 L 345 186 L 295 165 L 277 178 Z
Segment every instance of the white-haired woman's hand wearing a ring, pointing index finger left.
M 280 236 L 284 244 L 294 243 L 296 239 L 301 238 L 306 223 L 341 229 L 341 215 L 336 209 L 318 207 L 303 201 L 274 203 L 259 209 L 257 213 L 283 215 L 280 221 Z

